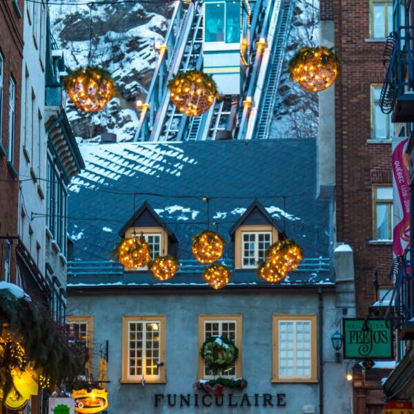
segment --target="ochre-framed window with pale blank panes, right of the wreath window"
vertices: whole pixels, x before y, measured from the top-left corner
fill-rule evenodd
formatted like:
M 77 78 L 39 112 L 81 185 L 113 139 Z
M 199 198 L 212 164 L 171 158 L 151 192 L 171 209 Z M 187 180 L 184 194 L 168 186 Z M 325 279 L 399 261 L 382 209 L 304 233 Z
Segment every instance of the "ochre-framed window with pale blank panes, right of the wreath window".
M 273 316 L 276 382 L 316 380 L 315 315 Z

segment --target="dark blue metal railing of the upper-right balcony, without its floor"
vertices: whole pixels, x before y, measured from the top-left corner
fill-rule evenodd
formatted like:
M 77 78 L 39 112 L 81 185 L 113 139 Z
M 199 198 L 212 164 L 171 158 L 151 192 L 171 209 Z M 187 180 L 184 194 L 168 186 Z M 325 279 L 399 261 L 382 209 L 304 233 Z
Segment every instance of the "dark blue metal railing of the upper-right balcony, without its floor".
M 401 26 L 386 41 L 383 63 L 388 62 L 380 96 L 382 112 L 389 114 L 398 95 L 414 93 L 414 26 Z

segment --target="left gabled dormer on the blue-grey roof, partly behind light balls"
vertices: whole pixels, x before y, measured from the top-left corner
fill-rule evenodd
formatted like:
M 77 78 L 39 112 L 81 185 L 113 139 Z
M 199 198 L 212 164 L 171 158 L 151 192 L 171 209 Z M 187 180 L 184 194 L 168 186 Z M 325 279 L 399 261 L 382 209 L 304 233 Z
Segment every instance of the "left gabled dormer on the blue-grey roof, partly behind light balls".
M 144 235 L 150 246 L 152 259 L 157 256 L 176 254 L 177 238 L 147 201 L 144 201 L 118 232 L 123 238 L 132 237 L 134 233 Z

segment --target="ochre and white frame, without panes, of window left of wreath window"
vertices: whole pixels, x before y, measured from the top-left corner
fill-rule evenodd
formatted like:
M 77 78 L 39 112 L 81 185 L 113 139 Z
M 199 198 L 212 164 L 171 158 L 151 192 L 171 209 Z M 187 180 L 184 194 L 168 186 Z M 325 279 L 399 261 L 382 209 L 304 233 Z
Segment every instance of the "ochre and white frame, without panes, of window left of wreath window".
M 130 352 L 133 351 L 130 348 L 130 324 L 142 324 L 142 348 L 141 348 L 141 375 L 130 374 Z M 157 367 L 157 375 L 146 375 L 146 325 L 157 324 L 159 328 L 159 340 L 158 340 L 158 357 L 157 362 L 163 362 L 164 365 Z M 124 316 L 123 320 L 123 341 L 122 341 L 122 379 L 121 382 L 151 382 L 151 383 L 165 383 L 165 364 L 166 364 L 166 317 L 165 315 L 137 315 L 137 316 Z M 135 348 L 136 349 L 136 348 Z M 156 349 L 156 348 L 152 348 Z M 137 355 L 135 354 L 135 357 Z M 157 363 L 156 363 L 157 364 Z

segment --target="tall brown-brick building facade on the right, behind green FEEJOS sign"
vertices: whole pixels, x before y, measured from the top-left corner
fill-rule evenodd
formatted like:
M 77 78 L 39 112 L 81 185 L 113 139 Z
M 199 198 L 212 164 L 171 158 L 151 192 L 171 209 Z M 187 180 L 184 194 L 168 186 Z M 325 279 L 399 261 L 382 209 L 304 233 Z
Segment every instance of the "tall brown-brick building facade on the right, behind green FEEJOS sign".
M 336 225 L 337 240 L 354 251 L 359 317 L 368 315 L 370 306 L 392 286 L 388 273 L 393 259 L 393 128 L 378 104 L 391 15 L 392 1 L 320 1 L 322 44 L 329 46 L 324 39 L 332 39 L 342 60 L 335 83 L 335 115 L 331 115 L 335 117 L 331 123 L 335 130 Z M 372 369 L 364 373 L 359 364 L 354 366 L 354 413 L 382 413 L 381 378 L 387 372 Z

